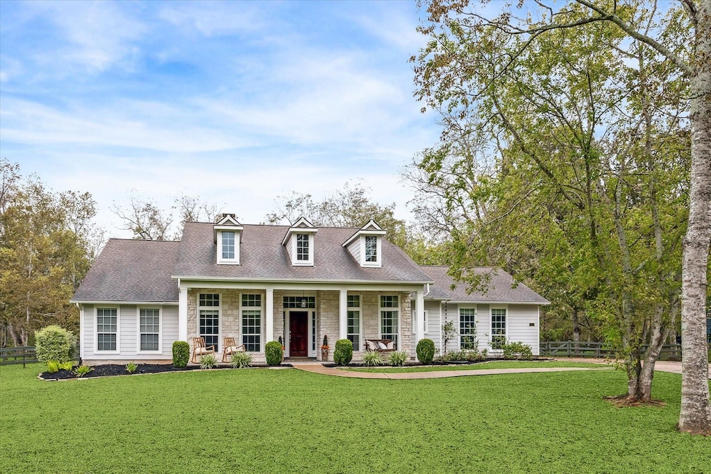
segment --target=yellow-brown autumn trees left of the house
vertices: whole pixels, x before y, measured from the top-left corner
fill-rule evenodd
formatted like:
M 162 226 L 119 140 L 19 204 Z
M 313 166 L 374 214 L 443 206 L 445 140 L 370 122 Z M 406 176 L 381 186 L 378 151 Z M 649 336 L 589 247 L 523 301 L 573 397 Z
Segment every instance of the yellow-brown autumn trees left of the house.
M 47 324 L 78 329 L 69 303 L 100 248 L 89 193 L 55 193 L 0 161 L 0 344 L 27 345 Z

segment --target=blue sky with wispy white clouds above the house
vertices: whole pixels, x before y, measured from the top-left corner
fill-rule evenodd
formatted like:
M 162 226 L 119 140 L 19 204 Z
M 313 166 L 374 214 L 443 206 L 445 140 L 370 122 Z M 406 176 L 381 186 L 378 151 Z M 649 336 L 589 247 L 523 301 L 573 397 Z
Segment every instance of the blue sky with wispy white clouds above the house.
M 262 222 L 277 195 L 362 180 L 409 218 L 400 170 L 437 141 L 407 60 L 414 1 L 0 1 L 0 156 L 87 190 L 108 236 L 129 190 Z

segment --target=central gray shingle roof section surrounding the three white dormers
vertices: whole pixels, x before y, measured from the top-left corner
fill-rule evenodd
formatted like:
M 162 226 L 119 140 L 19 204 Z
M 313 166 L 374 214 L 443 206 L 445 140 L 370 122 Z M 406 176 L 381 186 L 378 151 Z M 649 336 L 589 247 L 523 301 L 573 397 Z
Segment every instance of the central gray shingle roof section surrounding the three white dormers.
M 244 225 L 239 265 L 215 264 L 213 225 L 186 222 L 173 276 L 240 280 L 432 281 L 405 252 L 383 239 L 383 266 L 362 268 L 341 246 L 358 229 L 319 227 L 314 235 L 314 266 L 292 266 L 282 239 L 286 225 Z

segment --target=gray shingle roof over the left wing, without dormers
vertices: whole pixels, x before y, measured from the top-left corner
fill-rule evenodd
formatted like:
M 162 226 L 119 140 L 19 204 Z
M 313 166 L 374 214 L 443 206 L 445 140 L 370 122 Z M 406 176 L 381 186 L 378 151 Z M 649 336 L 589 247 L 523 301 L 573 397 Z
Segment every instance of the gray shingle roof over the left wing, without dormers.
M 109 239 L 72 301 L 178 301 L 180 242 Z

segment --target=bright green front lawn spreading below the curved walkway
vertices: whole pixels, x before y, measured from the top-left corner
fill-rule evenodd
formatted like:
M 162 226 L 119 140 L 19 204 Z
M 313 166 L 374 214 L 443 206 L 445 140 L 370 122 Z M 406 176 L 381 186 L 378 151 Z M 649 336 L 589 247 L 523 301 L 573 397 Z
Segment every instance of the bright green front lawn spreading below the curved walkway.
M 448 379 L 219 370 L 42 382 L 0 367 L 0 472 L 703 473 L 711 440 L 617 409 L 623 372 Z

